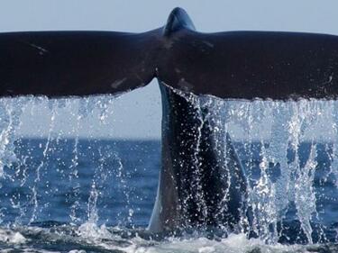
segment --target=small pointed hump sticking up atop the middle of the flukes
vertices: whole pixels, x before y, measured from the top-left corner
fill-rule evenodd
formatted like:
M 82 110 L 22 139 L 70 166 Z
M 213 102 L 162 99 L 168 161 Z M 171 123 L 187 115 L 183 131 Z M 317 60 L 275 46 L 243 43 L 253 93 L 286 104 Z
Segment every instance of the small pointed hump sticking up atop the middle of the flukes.
M 180 7 L 176 7 L 169 14 L 167 24 L 164 27 L 164 36 L 169 36 L 173 32 L 178 32 L 182 29 L 196 30 L 187 12 Z

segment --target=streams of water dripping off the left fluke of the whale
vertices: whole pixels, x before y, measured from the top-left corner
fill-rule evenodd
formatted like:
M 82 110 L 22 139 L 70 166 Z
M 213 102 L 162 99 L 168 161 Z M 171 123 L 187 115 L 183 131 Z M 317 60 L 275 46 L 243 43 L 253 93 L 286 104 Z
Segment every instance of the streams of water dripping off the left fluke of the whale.
M 56 171 L 61 176 L 61 180 L 66 180 L 68 178 L 69 185 L 71 185 L 71 191 L 66 196 L 66 202 L 71 203 L 69 208 L 69 219 L 74 223 L 85 221 L 83 219 L 82 213 L 84 212 L 84 203 L 82 203 L 80 194 L 83 194 L 82 185 L 80 185 L 79 171 L 78 171 L 78 162 L 79 157 L 81 156 L 79 151 L 79 131 L 81 123 L 84 118 L 93 114 L 94 111 L 97 111 L 97 121 L 99 124 L 105 124 L 106 119 L 112 115 L 112 107 L 114 98 L 112 97 L 96 97 L 83 98 L 83 99 L 61 99 L 61 100 L 48 100 L 45 97 L 26 97 L 26 98 L 16 98 L 16 99 L 1 99 L 0 100 L 0 176 L 3 178 L 3 182 L 0 182 L 0 188 L 2 185 L 9 184 L 13 182 L 17 185 L 17 190 L 13 194 L 5 193 L 5 198 L 8 196 L 8 202 L 10 203 L 11 210 L 16 210 L 17 215 L 14 217 L 15 224 L 22 224 L 26 221 L 28 223 L 33 223 L 39 221 L 39 214 L 44 212 L 44 209 L 48 210 L 49 203 L 40 203 L 40 199 L 44 195 L 57 193 L 59 189 L 52 189 L 50 185 L 53 185 L 48 181 L 45 181 L 45 178 L 48 177 L 50 171 L 47 171 L 46 168 L 50 167 L 50 159 L 53 159 L 52 153 L 62 151 L 62 132 L 56 129 L 57 122 L 62 117 L 59 117 L 59 110 L 66 110 L 76 119 L 76 122 L 73 124 L 73 130 L 71 132 L 74 136 L 74 145 L 71 150 L 72 158 L 69 162 L 67 161 L 58 161 L 59 167 L 56 167 Z M 41 108 L 45 110 L 48 108 L 50 110 L 50 120 L 49 120 L 49 131 L 47 134 L 47 139 L 45 141 L 39 140 L 38 149 L 41 150 L 41 157 L 38 162 L 34 165 L 34 173 L 32 173 L 32 159 L 35 159 L 30 156 L 17 157 L 15 149 L 17 146 L 14 145 L 14 142 L 18 145 L 21 144 L 20 136 L 15 135 L 15 131 L 20 127 L 20 115 L 25 110 L 26 104 L 28 104 L 28 112 L 34 116 L 36 112 L 40 111 Z M 78 107 L 78 111 L 74 111 L 74 108 Z M 65 113 L 65 112 L 64 112 Z M 66 112 L 67 113 L 67 112 Z M 64 141 L 68 141 L 65 139 Z M 70 140 L 69 140 L 70 141 Z M 20 147 L 20 146 L 19 146 Z M 89 146 L 90 149 L 90 146 Z M 34 149 L 35 151 L 36 149 Z M 66 151 L 66 150 L 65 150 Z M 66 151 L 67 152 L 67 151 Z M 31 149 L 28 149 L 28 153 L 32 153 Z M 105 153 L 105 154 L 104 154 Z M 109 180 L 111 172 L 107 172 L 104 167 L 106 159 L 118 159 L 118 155 L 114 152 L 114 158 L 110 154 L 109 150 L 99 150 L 98 154 L 101 158 L 99 159 L 99 167 L 96 167 L 96 173 L 94 174 L 92 189 L 88 189 L 87 194 L 89 194 L 87 206 L 90 208 L 87 209 L 87 215 L 90 217 L 90 221 L 96 221 L 96 218 L 93 218 L 96 212 L 96 200 L 99 195 L 103 192 L 100 190 L 101 185 L 105 184 L 105 180 Z M 51 160 L 55 164 L 57 160 Z M 67 166 L 69 167 L 62 168 Z M 122 170 L 122 163 L 120 161 L 119 169 Z M 51 183 L 51 184 L 50 184 Z M 123 183 L 124 184 L 124 183 Z M 125 184 L 124 184 L 125 185 Z M 26 188 L 31 190 L 31 194 L 23 194 L 20 189 L 25 191 Z M 42 188 L 44 188 L 42 190 Z M 96 196 L 97 195 L 97 196 Z M 3 203 L 5 200 L 0 200 L 0 218 L 6 216 L 8 210 L 6 206 L 7 203 Z M 94 215 L 94 216 L 93 216 Z

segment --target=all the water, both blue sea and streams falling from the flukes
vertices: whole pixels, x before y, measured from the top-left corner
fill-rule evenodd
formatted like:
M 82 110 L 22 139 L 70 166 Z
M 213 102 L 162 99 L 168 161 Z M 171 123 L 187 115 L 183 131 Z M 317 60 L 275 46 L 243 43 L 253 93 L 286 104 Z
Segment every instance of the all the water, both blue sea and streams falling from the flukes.
M 249 239 L 244 233 L 225 238 L 192 230 L 163 237 L 146 230 L 157 192 L 160 140 L 78 137 L 81 121 L 93 110 L 100 111 L 93 121 L 105 123 L 112 100 L 83 99 L 75 112 L 72 100 L 51 100 L 44 139 L 15 135 L 23 106 L 41 101 L 0 100 L 2 250 L 338 251 L 338 103 L 197 99 L 198 106 L 220 112 L 212 114 L 215 128 L 229 132 L 242 160 L 253 213 Z M 75 116 L 74 138 L 55 129 L 59 107 L 65 106 Z

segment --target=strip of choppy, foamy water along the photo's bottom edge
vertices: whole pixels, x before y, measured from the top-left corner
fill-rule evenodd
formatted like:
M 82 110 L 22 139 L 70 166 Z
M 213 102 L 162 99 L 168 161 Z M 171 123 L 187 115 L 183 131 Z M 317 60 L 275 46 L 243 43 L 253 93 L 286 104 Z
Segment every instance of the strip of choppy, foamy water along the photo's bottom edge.
M 207 238 L 201 234 L 183 237 L 156 238 L 143 229 L 97 226 L 87 222 L 45 227 L 22 226 L 0 229 L 2 252 L 229 252 L 288 253 L 337 252 L 338 244 L 268 245 L 260 239 L 247 239 L 245 234 L 230 234 L 227 238 Z

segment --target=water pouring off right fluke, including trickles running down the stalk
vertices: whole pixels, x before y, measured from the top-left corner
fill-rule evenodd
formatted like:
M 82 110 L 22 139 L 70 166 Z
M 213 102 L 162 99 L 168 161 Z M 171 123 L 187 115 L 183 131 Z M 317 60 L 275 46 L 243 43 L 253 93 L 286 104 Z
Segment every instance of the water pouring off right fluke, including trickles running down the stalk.
M 327 182 L 330 176 L 337 177 L 337 102 L 249 102 L 186 95 L 179 91 L 176 94 L 194 104 L 197 112 L 203 104 L 209 112 L 206 117 L 213 118 L 213 123 L 208 123 L 217 142 L 225 136 L 216 133 L 221 127 L 236 141 L 238 149 L 244 150 L 240 155 L 248 179 L 248 203 L 253 215 L 251 231 L 257 237 L 269 244 L 295 240 L 310 244 L 327 241 L 327 229 L 334 221 L 324 221 L 327 220 L 324 212 L 334 212 L 337 200 L 332 199 L 333 209 L 324 210 L 318 200 L 327 196 L 315 187 L 315 180 L 324 186 L 330 183 Z M 201 119 L 202 126 L 206 121 Z M 201 129 L 199 127 L 198 131 Z M 196 153 L 200 135 L 196 134 Z M 220 149 L 218 144 L 213 146 L 215 150 Z M 321 148 L 323 146 L 326 149 Z M 333 148 L 328 149 L 328 146 Z M 321 161 L 323 156 L 330 158 L 330 171 L 325 173 L 322 171 L 325 169 Z M 201 165 L 196 164 L 196 171 L 198 166 Z M 230 183 L 228 187 L 231 187 Z M 200 203 L 203 203 L 203 194 L 199 195 Z M 226 198 L 227 191 L 224 191 L 224 200 Z M 222 203 L 226 205 L 226 201 Z M 220 208 L 226 210 L 227 207 Z

